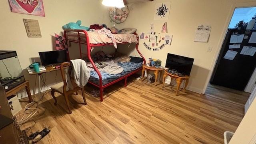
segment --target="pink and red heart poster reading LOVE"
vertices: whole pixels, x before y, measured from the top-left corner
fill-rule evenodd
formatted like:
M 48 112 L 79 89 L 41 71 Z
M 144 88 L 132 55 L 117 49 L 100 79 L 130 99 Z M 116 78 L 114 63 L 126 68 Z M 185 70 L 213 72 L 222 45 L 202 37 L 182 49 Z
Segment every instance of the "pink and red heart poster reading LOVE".
M 12 12 L 45 16 L 43 0 L 9 0 Z

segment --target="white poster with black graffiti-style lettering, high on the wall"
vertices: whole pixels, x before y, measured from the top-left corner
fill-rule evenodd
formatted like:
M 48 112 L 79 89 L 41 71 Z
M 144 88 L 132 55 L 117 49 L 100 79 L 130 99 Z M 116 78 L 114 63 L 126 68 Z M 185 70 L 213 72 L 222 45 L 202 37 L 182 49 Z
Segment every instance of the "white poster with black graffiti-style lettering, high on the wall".
M 154 21 L 169 19 L 171 2 L 157 3 L 154 8 Z

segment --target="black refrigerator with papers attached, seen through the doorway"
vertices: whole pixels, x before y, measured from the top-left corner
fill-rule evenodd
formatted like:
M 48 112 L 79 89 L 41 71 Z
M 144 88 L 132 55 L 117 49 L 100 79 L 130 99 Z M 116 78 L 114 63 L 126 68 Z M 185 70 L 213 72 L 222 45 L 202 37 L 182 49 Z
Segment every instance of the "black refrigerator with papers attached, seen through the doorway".
M 212 74 L 211 84 L 241 91 L 246 88 L 256 67 L 256 54 L 250 56 L 241 54 L 241 52 L 244 47 L 256 47 L 256 43 L 250 43 L 253 32 L 256 32 L 256 30 L 228 29 Z M 234 43 L 232 39 L 239 36 L 242 37 L 241 41 Z M 237 46 L 237 48 L 232 46 Z M 227 58 L 226 54 L 228 52 L 236 52 L 234 59 Z

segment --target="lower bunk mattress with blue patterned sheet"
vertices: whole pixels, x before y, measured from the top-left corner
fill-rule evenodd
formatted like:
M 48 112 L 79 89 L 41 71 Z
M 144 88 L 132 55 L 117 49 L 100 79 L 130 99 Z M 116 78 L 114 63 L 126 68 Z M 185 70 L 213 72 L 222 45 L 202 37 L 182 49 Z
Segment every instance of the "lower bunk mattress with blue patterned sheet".
M 102 86 L 104 86 L 105 84 L 108 84 L 122 76 L 125 76 L 126 74 L 129 74 L 135 70 L 138 70 L 139 68 L 142 67 L 142 62 L 140 62 L 140 63 L 124 62 L 124 63 L 118 63 L 118 66 L 122 66 L 124 68 L 124 71 L 120 74 L 108 74 L 103 71 L 100 72 L 101 76 L 102 76 Z M 93 82 L 94 84 L 99 85 L 99 76 L 95 70 L 90 72 L 89 81 Z

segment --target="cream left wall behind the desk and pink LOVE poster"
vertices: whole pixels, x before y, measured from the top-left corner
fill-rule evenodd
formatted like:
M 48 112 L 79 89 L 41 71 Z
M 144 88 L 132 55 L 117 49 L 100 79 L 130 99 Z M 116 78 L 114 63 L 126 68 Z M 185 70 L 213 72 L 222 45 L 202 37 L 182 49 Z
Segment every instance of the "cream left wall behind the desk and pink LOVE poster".
M 54 32 L 63 32 L 62 26 L 68 22 L 82 20 L 83 26 L 90 24 L 108 25 L 107 9 L 102 6 L 101 0 L 43 0 L 45 17 L 32 16 L 27 14 L 13 13 L 10 10 L 8 0 L 0 0 L 0 50 L 16 50 L 20 65 L 23 69 L 26 80 L 34 86 L 35 76 L 28 76 L 26 67 L 37 58 L 38 52 L 55 50 Z M 23 18 L 39 21 L 42 38 L 28 38 L 23 23 Z M 74 53 L 78 49 L 74 49 Z M 47 74 L 46 83 L 50 86 L 55 83 L 55 72 Z M 60 81 L 60 72 L 57 80 Z

